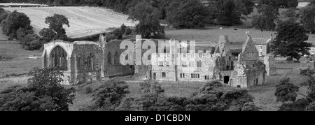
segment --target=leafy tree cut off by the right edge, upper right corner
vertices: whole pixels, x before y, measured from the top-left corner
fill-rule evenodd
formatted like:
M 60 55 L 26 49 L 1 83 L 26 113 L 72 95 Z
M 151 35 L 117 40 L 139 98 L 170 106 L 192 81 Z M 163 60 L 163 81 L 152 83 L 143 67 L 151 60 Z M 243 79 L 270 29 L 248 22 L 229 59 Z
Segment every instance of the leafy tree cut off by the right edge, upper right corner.
M 315 32 L 315 6 L 306 6 L 300 10 L 301 22 L 305 30 Z

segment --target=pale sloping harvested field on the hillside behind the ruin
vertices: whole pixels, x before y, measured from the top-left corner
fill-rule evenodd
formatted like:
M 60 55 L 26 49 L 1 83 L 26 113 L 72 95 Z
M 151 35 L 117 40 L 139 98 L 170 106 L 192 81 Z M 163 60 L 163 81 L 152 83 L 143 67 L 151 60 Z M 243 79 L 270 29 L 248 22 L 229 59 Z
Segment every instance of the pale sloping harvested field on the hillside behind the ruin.
M 127 20 L 127 15 L 115 13 L 106 8 L 95 7 L 25 7 L 5 8 L 6 10 L 18 10 L 25 13 L 31 19 L 34 31 L 38 33 L 44 27 L 45 17 L 55 13 L 68 17 L 70 27 L 65 27 L 66 34 L 71 38 L 90 36 L 106 31 L 109 27 L 120 27 L 121 24 L 134 26 L 137 22 Z

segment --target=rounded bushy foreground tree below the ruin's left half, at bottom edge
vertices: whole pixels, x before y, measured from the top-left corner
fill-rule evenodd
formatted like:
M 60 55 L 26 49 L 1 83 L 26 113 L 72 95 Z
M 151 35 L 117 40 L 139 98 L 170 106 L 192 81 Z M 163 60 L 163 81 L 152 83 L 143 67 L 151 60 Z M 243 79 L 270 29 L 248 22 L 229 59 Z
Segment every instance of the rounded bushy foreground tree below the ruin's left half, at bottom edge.
M 128 84 L 121 80 L 109 80 L 97 87 L 92 94 L 92 110 L 115 110 L 123 98 L 130 93 Z

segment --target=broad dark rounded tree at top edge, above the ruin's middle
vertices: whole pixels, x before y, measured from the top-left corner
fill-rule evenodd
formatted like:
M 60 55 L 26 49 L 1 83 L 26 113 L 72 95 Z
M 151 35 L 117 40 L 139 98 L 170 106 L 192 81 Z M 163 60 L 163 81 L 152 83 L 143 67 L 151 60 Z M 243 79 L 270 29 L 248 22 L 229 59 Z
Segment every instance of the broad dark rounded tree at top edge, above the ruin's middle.
M 172 2 L 167 8 L 167 22 L 176 29 L 204 27 L 207 8 L 199 0 Z

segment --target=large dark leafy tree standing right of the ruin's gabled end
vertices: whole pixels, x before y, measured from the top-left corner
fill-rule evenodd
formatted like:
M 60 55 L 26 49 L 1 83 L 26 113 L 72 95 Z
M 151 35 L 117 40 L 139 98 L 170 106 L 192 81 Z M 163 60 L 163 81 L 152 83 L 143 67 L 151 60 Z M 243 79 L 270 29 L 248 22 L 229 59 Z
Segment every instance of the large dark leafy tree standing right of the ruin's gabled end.
M 280 23 L 278 35 L 271 46 L 274 54 L 282 57 L 292 57 L 297 60 L 305 54 L 309 54 L 308 50 L 311 43 L 305 42 L 309 38 L 305 32 L 300 24 L 292 20 Z

